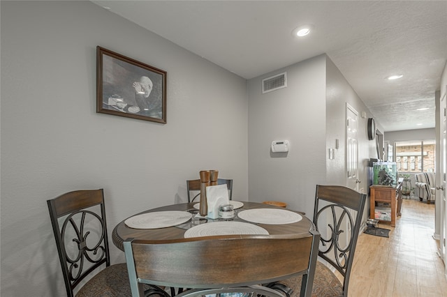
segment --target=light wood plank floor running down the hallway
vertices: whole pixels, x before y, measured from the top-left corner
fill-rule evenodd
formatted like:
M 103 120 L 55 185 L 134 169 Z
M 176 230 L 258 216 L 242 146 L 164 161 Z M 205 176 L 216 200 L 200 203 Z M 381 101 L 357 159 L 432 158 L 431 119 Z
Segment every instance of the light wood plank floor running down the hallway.
M 434 205 L 404 199 L 402 217 L 384 238 L 360 234 L 354 257 L 349 297 L 446 296 L 444 262 L 437 255 Z

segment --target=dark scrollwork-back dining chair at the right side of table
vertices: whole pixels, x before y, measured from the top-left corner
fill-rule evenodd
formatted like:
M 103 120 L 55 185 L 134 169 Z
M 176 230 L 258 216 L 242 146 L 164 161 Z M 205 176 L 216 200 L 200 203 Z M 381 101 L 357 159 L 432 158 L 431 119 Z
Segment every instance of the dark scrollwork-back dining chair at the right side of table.
M 318 257 L 335 268 L 340 282 L 330 268 L 318 261 L 312 296 L 348 296 L 349 276 L 356 251 L 363 209 L 367 195 L 341 185 L 317 185 L 314 224 L 321 234 Z M 286 296 L 298 296 L 300 277 L 291 277 L 269 285 Z

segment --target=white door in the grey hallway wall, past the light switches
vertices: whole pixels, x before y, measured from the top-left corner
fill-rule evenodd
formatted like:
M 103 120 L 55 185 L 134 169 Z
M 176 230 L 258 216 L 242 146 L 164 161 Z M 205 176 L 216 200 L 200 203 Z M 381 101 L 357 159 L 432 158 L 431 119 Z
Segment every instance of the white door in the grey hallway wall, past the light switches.
M 346 187 L 358 191 L 358 112 L 346 103 Z

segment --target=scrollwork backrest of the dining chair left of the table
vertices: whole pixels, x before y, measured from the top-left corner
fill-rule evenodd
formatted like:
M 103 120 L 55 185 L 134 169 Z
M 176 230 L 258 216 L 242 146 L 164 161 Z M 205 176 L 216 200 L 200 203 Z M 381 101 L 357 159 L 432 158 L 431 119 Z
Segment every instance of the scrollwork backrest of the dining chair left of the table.
M 103 189 L 47 200 L 68 296 L 99 266 L 110 266 Z

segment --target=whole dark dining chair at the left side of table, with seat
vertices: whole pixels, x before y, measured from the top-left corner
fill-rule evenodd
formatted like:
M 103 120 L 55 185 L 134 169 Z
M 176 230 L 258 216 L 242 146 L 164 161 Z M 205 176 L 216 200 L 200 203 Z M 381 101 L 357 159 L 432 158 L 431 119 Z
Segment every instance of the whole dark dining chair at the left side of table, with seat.
M 78 286 L 77 297 L 131 296 L 126 263 L 110 265 L 103 189 L 68 192 L 47 204 L 67 296 Z M 162 291 L 145 290 L 147 295 Z

